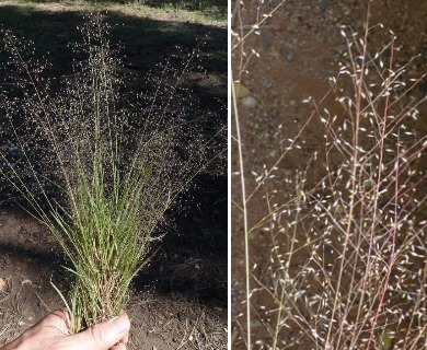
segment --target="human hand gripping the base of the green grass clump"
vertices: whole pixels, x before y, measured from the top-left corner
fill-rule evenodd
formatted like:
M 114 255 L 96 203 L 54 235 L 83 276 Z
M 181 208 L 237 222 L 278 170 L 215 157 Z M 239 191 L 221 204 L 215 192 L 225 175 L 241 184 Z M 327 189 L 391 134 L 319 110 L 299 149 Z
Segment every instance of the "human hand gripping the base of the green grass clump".
M 0 350 L 126 350 L 129 328 L 122 315 L 70 335 L 68 313 L 58 310 Z

